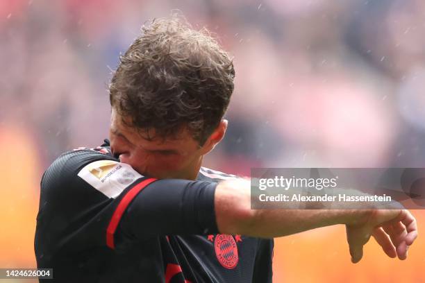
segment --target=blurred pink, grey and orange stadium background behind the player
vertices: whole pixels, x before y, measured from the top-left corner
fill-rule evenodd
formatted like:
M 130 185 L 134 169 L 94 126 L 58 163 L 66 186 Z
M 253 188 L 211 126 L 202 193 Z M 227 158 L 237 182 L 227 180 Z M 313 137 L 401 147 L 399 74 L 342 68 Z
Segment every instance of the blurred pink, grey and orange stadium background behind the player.
M 35 266 L 42 172 L 107 136 L 119 53 L 174 8 L 235 58 L 228 134 L 206 166 L 425 166 L 425 1 L 2 0 L 1 267 Z M 276 239 L 274 282 L 425 282 L 421 238 L 406 261 L 371 241 L 357 265 L 342 226 Z

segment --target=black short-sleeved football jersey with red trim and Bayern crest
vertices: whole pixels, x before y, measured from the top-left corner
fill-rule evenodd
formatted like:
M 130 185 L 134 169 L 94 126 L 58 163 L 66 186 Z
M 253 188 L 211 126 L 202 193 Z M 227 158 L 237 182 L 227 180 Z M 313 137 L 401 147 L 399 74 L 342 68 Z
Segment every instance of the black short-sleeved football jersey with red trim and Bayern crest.
M 107 143 L 64 153 L 41 182 L 38 268 L 46 282 L 272 282 L 272 239 L 218 234 L 215 187 L 234 177 L 147 178 Z

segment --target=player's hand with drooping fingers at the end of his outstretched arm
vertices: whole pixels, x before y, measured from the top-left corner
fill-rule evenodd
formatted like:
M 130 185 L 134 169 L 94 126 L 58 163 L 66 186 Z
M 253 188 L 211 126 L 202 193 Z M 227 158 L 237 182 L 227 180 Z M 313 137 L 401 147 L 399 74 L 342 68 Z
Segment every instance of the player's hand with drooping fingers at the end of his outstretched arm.
M 363 257 L 363 246 L 373 236 L 389 257 L 406 259 L 408 248 L 417 237 L 415 217 L 406 209 L 376 209 L 362 223 L 347 224 L 351 261 Z

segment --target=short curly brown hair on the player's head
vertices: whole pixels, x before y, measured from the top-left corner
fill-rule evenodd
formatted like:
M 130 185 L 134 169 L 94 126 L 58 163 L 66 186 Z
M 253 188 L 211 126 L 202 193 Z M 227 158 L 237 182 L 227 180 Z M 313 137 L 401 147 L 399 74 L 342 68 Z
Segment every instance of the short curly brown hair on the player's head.
M 151 129 L 165 139 L 187 128 L 202 145 L 226 112 L 234 78 L 232 59 L 206 28 L 172 15 L 142 26 L 121 56 L 110 104 L 148 139 Z

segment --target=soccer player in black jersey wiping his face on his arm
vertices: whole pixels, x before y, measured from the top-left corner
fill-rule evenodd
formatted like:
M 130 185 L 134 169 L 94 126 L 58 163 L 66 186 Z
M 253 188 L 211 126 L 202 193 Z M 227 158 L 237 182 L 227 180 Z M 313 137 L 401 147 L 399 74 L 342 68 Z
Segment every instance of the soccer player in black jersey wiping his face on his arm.
M 56 282 L 272 282 L 273 237 L 335 224 L 353 262 L 372 234 L 405 259 L 407 210 L 251 210 L 247 180 L 201 167 L 226 132 L 234 76 L 206 31 L 179 17 L 144 26 L 110 83 L 110 140 L 42 177 L 38 268 Z

